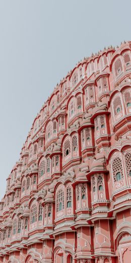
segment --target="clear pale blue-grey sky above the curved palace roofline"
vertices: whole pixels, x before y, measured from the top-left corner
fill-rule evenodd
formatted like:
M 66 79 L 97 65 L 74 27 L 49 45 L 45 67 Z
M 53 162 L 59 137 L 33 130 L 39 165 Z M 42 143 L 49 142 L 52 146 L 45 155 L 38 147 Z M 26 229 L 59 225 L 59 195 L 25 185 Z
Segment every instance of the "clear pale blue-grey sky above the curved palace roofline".
M 33 119 L 76 63 L 131 40 L 130 0 L 0 0 L 0 198 Z

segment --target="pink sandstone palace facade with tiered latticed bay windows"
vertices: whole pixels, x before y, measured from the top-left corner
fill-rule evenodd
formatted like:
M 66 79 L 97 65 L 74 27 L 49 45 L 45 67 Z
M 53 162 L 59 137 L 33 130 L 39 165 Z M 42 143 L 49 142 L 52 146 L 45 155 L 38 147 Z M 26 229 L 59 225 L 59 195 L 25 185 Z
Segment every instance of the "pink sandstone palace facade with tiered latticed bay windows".
M 0 203 L 0 262 L 131 262 L 131 41 L 78 62 L 37 114 Z

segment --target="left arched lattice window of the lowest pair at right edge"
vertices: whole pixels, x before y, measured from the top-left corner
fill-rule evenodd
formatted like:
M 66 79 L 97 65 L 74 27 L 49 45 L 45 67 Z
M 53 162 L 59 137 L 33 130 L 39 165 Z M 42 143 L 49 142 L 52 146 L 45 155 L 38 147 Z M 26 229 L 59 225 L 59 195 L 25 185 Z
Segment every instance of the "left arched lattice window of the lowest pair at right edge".
M 116 157 L 112 161 L 113 179 L 114 182 L 119 181 L 123 178 L 122 161 L 120 157 Z

